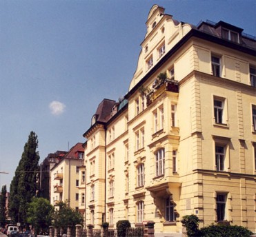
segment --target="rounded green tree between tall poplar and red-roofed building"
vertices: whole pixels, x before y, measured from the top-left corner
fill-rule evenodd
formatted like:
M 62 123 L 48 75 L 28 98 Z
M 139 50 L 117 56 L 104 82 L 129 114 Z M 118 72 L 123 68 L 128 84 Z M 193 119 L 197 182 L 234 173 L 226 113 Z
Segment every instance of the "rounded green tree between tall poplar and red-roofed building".
M 32 198 L 28 204 L 27 221 L 34 228 L 35 235 L 39 231 L 47 231 L 52 222 L 54 207 L 46 198 Z

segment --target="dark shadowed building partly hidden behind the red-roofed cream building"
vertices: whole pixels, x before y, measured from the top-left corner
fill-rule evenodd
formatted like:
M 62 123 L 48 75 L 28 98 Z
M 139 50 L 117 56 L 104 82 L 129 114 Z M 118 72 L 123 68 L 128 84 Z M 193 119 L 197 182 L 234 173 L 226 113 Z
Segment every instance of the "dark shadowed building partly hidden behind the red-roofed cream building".
M 55 153 L 50 153 L 40 164 L 40 174 L 39 174 L 39 196 L 50 200 L 50 169 L 54 167 L 61 158 L 65 156 L 67 152 L 57 151 Z

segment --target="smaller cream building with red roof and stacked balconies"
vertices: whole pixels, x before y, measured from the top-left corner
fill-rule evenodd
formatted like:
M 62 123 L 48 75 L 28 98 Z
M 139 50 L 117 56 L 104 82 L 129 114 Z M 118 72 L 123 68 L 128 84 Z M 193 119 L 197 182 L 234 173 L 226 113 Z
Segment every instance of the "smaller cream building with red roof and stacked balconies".
M 79 167 L 84 163 L 83 143 L 77 143 L 50 169 L 50 203 L 68 202 L 68 206 L 79 210 Z

